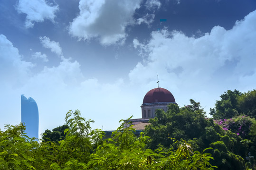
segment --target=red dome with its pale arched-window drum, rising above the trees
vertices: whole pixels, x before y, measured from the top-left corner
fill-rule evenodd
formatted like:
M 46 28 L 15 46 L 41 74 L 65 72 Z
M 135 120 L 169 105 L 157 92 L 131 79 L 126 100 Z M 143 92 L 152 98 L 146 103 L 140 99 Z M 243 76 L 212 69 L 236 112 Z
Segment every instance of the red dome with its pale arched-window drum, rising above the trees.
M 146 93 L 142 108 L 142 118 L 154 118 L 155 110 L 162 109 L 168 110 L 169 104 L 177 104 L 172 93 L 165 88 L 154 88 Z

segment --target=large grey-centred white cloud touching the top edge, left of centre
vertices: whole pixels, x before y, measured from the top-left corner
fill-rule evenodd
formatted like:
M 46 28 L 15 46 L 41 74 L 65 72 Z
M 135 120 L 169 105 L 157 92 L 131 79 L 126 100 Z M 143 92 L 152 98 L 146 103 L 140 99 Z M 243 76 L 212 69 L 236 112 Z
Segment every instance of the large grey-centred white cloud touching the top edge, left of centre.
M 80 13 L 70 24 L 69 34 L 79 40 L 99 38 L 103 45 L 123 44 L 125 27 L 135 23 L 137 8 L 140 0 L 80 0 Z

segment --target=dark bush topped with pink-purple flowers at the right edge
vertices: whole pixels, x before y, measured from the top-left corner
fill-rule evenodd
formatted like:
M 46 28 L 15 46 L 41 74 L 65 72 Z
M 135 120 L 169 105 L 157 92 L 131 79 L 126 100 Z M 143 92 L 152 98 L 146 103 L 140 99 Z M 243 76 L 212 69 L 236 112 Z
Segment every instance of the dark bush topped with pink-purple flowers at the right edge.
M 221 126 L 224 130 L 230 130 L 241 136 L 243 139 L 247 139 L 253 121 L 254 119 L 248 116 L 237 116 L 231 119 L 214 120 L 214 123 Z

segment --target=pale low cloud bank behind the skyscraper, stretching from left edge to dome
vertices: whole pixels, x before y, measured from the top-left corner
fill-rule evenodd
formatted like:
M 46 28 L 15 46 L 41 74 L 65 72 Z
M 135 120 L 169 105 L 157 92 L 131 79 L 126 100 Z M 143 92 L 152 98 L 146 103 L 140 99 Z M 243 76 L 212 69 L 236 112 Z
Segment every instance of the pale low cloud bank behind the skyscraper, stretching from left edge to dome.
M 39 133 L 63 125 L 65 114 L 71 109 L 79 109 L 83 117 L 95 120 L 93 128 L 104 126 L 104 130 L 113 130 L 119 126 L 120 119 L 134 114 L 134 108 L 127 105 L 141 103 L 142 99 L 134 97 L 137 93 L 130 93 L 122 78 L 111 83 L 86 79 L 80 63 L 71 58 L 62 57 L 59 64 L 32 72 L 33 63 L 24 61 L 4 35 L 0 35 L 0 51 L 0 73 L 3 73 L 0 74 L 0 89 L 4 89 L 1 109 L 6 110 L 6 115 L 0 119 L 0 128 L 20 122 L 20 94 L 31 96 L 38 104 Z M 140 116 L 139 104 L 136 109 L 135 113 Z M 111 124 L 102 119 L 106 116 L 111 117 Z

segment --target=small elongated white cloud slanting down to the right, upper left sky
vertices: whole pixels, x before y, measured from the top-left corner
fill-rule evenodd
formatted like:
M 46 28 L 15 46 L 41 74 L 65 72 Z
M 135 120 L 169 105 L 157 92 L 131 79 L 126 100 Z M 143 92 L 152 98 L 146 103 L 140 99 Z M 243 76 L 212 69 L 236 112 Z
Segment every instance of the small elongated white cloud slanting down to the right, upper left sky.
M 57 55 L 61 56 L 62 55 L 62 49 L 59 45 L 59 42 L 55 41 L 50 41 L 50 39 L 46 36 L 44 37 L 39 37 L 41 44 L 43 47 L 50 49 L 52 52 L 56 53 Z

